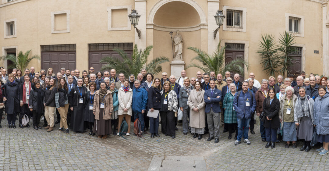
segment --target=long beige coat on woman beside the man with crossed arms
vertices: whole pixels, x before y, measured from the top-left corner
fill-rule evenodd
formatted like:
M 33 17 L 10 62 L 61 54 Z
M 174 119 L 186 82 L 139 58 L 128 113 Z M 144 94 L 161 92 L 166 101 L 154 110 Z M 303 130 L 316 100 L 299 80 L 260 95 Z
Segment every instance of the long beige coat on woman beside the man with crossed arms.
M 190 106 L 190 127 L 193 128 L 205 128 L 206 127 L 206 114 L 205 114 L 205 100 L 204 90 L 196 92 L 195 88 L 191 90 L 189 96 Z M 199 109 L 199 112 L 193 110 L 194 107 Z

